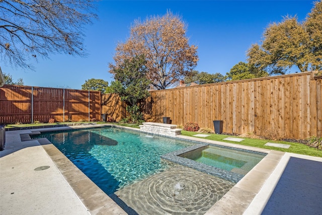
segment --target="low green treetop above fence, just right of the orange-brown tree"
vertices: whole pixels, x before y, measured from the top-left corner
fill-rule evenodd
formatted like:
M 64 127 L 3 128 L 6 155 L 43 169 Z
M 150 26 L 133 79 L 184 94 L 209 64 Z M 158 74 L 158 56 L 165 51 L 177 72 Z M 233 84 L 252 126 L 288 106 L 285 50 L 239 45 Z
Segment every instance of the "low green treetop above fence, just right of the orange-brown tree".
M 193 70 L 190 76 L 185 77 L 186 83 L 194 82 L 199 85 L 212 84 L 224 81 L 226 81 L 226 77 L 221 75 L 220 73 L 209 74 L 205 71 L 199 73 L 199 71 L 197 70 Z

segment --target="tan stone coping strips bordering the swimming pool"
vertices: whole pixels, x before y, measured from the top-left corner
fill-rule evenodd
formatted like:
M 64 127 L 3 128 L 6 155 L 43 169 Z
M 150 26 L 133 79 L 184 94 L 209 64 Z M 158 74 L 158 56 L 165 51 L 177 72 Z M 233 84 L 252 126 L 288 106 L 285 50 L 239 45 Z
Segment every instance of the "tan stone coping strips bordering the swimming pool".
M 38 131 L 45 132 L 104 126 L 120 127 L 122 129 L 139 131 L 137 128 L 129 128 L 113 124 L 96 124 L 29 129 L 28 133 L 31 134 Z M 290 156 L 297 156 L 305 159 L 313 158 L 315 160 L 322 161 L 318 157 L 247 147 L 227 142 L 200 139 L 197 137 L 178 135 L 176 137 L 169 138 L 205 142 L 207 144 L 221 145 L 267 154 L 259 164 L 257 164 L 218 202 L 216 202 L 206 214 L 261 214 L 287 164 L 287 158 Z M 28 141 L 28 139 L 26 139 L 26 141 Z M 91 214 L 126 214 L 126 212 L 122 210 L 117 203 L 115 203 L 96 184 L 94 184 L 83 172 L 74 166 L 56 147 L 51 144 L 51 142 L 46 139 L 38 140 L 38 142 Z

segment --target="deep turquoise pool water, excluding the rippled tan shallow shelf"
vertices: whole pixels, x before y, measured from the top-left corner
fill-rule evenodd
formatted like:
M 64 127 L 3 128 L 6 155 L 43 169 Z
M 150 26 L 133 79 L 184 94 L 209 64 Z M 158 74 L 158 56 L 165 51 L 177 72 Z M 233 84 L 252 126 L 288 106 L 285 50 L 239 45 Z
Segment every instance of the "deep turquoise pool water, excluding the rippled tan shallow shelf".
M 44 132 L 34 137 L 47 138 L 107 194 L 167 169 L 161 155 L 194 145 L 111 127 Z

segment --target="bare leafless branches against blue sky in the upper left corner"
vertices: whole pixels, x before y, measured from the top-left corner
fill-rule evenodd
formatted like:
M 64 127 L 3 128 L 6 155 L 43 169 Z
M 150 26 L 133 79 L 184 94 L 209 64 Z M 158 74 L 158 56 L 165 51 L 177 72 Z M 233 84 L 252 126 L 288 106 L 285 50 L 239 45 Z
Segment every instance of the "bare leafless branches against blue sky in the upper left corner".
M 27 60 L 49 53 L 85 56 L 84 29 L 96 15 L 93 1 L 0 1 L 0 59 L 33 68 Z

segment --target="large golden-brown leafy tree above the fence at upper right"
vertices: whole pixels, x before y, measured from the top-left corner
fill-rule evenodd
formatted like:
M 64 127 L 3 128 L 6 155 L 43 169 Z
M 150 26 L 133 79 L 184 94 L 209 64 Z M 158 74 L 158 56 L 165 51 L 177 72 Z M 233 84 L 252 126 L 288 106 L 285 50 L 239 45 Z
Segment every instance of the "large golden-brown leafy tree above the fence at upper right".
M 322 68 L 322 2 L 302 23 L 297 17 L 284 17 L 280 23 L 270 24 L 262 44 L 248 50 L 248 62 L 269 74 L 285 74 L 292 66 L 300 71 Z

